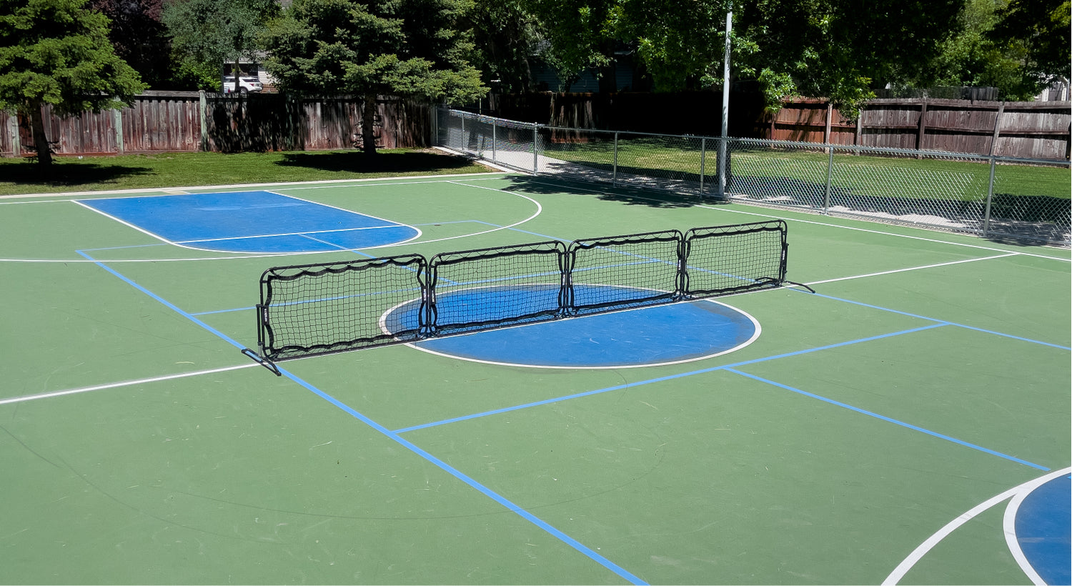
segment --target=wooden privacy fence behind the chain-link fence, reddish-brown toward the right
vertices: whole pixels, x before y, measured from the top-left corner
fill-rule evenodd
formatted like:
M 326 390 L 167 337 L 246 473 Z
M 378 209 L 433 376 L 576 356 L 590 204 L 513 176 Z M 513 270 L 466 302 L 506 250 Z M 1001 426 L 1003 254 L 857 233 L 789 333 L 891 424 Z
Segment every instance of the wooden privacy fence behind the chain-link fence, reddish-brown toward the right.
M 551 126 L 717 136 L 721 94 L 533 93 L 494 95 L 487 114 Z M 730 93 L 729 134 L 1024 159 L 1069 159 L 1070 102 L 870 100 L 858 120 L 819 100 L 786 102 L 771 115 L 761 94 Z

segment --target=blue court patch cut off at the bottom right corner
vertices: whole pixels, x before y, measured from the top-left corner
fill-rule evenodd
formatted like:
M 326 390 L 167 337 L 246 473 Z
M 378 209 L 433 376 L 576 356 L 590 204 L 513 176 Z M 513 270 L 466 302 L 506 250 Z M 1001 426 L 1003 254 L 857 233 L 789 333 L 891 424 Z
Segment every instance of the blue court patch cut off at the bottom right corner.
M 1016 541 L 1046 584 L 1072 581 L 1072 479 L 1068 475 L 1031 491 L 1016 510 Z

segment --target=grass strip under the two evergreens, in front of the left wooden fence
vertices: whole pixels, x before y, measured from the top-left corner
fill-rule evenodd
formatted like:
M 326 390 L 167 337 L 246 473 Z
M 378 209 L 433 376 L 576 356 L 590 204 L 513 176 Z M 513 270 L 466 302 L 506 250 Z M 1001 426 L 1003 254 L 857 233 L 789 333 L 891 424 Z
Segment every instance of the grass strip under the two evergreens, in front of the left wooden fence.
M 0 159 L 0 195 L 363 179 L 483 172 L 487 167 L 434 150 L 169 152 L 57 156 L 42 175 L 35 162 Z

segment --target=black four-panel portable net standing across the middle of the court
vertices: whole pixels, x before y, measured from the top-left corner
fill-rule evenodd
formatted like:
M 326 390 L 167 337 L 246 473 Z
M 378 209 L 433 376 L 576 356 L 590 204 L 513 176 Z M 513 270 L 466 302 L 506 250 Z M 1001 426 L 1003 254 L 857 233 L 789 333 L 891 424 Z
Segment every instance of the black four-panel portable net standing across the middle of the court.
M 787 236 L 775 220 L 274 267 L 260 277 L 259 357 L 243 354 L 272 363 L 776 288 Z

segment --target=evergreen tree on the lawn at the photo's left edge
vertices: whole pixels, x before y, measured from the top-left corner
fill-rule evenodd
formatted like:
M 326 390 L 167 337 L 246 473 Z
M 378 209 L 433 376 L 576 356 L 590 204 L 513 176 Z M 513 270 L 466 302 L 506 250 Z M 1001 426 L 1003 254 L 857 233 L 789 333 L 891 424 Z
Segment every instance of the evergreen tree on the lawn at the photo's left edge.
M 53 161 L 45 104 L 61 116 L 120 108 L 145 87 L 86 0 L 0 0 L 0 108 L 30 121 L 42 169 Z

